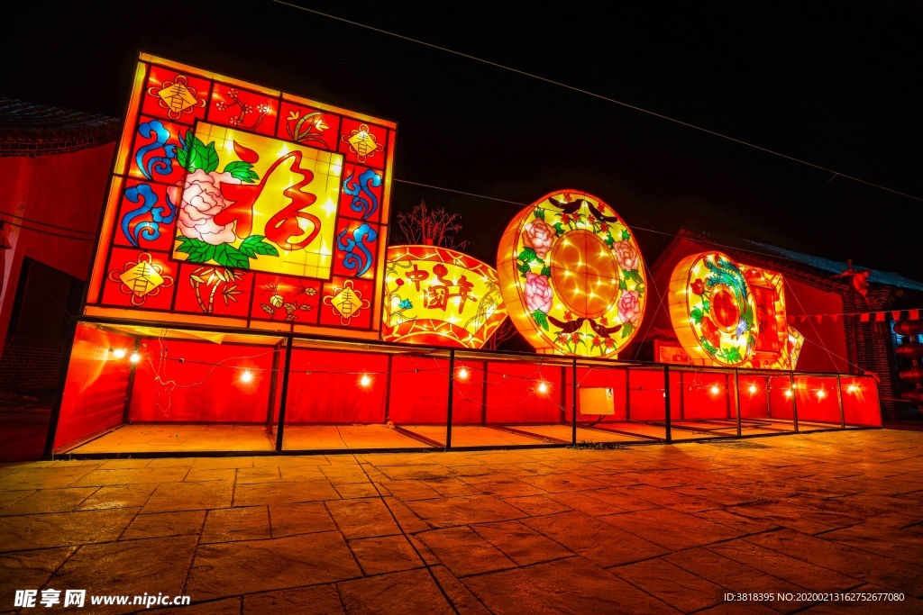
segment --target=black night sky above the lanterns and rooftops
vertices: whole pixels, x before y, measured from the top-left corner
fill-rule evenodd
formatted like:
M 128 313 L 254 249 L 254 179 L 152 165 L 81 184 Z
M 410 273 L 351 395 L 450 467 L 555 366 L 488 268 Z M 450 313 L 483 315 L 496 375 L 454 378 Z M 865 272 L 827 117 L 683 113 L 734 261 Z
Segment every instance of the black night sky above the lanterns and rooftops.
M 923 198 L 918 2 L 294 4 Z M 687 226 L 923 280 L 923 202 L 532 77 L 268 1 L 16 6 L 3 96 L 121 116 L 154 53 L 398 122 L 396 180 L 597 195 L 649 263 Z M 468 252 L 495 262 L 516 206 L 395 183 L 396 209 L 421 198 L 461 213 Z

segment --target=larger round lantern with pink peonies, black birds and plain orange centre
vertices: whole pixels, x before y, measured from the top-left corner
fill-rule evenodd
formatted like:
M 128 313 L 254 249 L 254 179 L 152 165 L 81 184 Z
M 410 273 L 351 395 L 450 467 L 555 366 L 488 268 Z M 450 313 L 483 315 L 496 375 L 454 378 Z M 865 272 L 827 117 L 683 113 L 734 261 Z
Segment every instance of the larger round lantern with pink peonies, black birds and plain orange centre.
M 628 226 L 593 195 L 545 195 L 500 239 L 497 275 L 513 324 L 539 352 L 614 357 L 644 313 L 641 253 Z

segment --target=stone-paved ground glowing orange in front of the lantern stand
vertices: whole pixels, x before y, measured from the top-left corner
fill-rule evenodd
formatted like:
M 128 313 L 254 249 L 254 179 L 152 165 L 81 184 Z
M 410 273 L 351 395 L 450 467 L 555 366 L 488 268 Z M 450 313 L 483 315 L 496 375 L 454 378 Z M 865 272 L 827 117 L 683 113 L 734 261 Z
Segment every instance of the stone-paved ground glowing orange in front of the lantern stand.
M 183 615 L 923 612 L 923 432 L 30 462 L 0 466 L 0 515 L 0 611 L 86 588 Z M 905 599 L 724 601 L 807 591 Z

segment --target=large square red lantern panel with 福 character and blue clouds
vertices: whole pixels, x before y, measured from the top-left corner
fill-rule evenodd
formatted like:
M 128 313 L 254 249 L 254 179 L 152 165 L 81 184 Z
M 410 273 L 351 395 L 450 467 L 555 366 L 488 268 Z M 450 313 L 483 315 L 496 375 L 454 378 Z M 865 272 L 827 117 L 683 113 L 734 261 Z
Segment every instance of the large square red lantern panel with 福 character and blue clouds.
M 86 313 L 377 338 L 394 127 L 142 54 Z

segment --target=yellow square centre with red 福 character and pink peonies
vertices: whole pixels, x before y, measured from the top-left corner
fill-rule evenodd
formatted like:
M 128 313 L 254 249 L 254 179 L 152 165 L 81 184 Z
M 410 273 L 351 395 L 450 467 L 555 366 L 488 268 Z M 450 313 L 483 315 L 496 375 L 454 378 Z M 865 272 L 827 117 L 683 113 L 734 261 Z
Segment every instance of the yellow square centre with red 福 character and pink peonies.
M 250 257 L 251 270 L 329 278 L 342 155 L 214 124 L 198 124 L 195 135 L 207 149 L 214 146 L 218 164 L 209 173 L 188 173 L 182 192 L 172 189 L 180 208 L 174 258 L 229 266 L 222 262 L 229 258 L 227 246 L 249 256 L 249 242 L 260 246 Z M 216 172 L 242 164 L 252 171 L 244 181 Z M 216 206 L 222 210 L 210 216 Z M 265 239 L 252 242 L 252 236 Z

